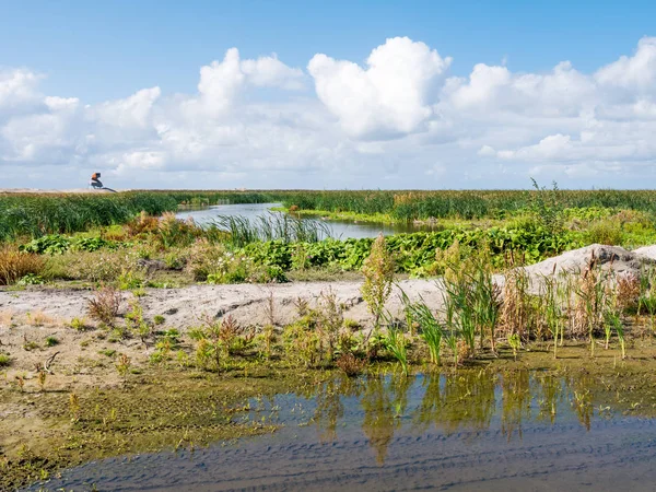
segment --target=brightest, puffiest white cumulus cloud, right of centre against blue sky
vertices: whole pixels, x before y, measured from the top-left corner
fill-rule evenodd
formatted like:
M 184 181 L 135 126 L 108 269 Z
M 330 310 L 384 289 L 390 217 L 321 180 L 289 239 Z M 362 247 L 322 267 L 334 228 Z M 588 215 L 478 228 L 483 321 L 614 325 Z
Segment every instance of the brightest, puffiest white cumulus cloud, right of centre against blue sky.
M 356 138 L 388 138 L 421 129 L 433 114 L 431 96 L 450 65 L 436 50 L 407 37 L 387 39 L 363 69 L 315 55 L 307 66 L 317 96 Z

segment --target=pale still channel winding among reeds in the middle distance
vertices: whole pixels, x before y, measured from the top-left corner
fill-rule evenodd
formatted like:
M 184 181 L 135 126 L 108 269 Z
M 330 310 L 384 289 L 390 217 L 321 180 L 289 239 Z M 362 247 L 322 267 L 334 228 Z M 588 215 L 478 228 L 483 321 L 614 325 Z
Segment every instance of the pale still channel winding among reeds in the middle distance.
M 270 212 L 273 207 L 280 207 L 280 203 L 237 203 L 237 204 L 222 204 L 215 207 L 208 207 L 200 210 L 184 210 L 179 211 L 176 216 L 179 219 L 191 218 L 197 224 L 208 224 L 219 215 L 241 215 L 249 219 L 250 221 L 256 220 L 258 216 L 267 215 L 268 213 L 282 213 L 282 212 Z M 345 239 L 349 237 L 361 238 L 361 237 L 376 237 L 378 234 L 393 235 L 399 233 L 408 233 L 425 230 L 425 227 L 415 227 L 412 224 L 377 224 L 377 223 L 354 223 L 349 221 L 324 221 L 317 215 L 307 216 L 308 220 L 319 220 L 325 222 L 331 230 L 331 236 L 336 238 Z

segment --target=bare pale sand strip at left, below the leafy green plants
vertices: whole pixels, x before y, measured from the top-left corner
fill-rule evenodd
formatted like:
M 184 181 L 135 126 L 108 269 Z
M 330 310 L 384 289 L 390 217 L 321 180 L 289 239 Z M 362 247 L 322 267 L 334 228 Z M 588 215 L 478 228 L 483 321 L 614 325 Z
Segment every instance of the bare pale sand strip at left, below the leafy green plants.
M 371 319 L 366 303 L 360 294 L 360 282 L 312 282 L 272 285 L 191 285 L 183 289 L 149 289 L 139 298 L 144 317 L 152 320 L 163 316 L 161 329 L 177 329 L 183 339 L 189 328 L 202 326 L 204 319 L 233 316 L 242 326 L 262 327 L 273 324 L 283 327 L 298 318 L 297 303 L 304 300 L 315 306 L 323 296 L 333 293 L 343 306 L 344 318 L 366 326 Z M 399 286 L 413 300 L 423 297 L 438 307 L 442 294 L 435 281 L 408 280 Z M 388 308 L 401 308 L 398 288 Z M 153 347 L 144 347 L 138 339 L 113 341 L 104 330 L 78 331 L 70 327 L 73 318 L 85 319 L 90 325 L 87 302 L 90 290 L 34 288 L 24 291 L 0 291 L 0 352 L 9 353 L 12 364 L 8 379 L 16 375 L 36 377 L 36 367 L 43 367 L 57 353 L 49 368 L 55 373 L 49 384 L 55 387 L 106 386 L 119 378 L 113 370 L 114 361 L 107 353 L 128 355 L 134 366 L 147 364 Z M 122 294 L 120 315 L 129 308 L 133 295 Z M 271 307 L 272 306 L 272 307 Z M 122 320 L 119 321 L 122 324 Z M 46 339 L 58 341 L 47 347 Z M 190 345 L 188 347 L 190 348 Z M 109 368 L 109 371 L 108 371 Z M 28 382 L 30 383 L 30 382 Z M 32 384 L 36 385 L 36 380 Z

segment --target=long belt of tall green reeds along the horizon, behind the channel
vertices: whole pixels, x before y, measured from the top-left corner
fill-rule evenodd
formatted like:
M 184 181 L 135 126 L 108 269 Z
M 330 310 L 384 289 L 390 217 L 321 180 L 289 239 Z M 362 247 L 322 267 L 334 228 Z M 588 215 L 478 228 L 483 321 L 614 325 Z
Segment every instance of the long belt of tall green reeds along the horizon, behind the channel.
M 433 219 L 549 218 L 565 210 L 656 213 L 652 190 L 142 190 L 120 194 L 0 194 L 0 242 L 120 224 L 141 211 L 159 215 L 179 204 L 282 202 L 288 210 L 347 220 L 408 223 Z

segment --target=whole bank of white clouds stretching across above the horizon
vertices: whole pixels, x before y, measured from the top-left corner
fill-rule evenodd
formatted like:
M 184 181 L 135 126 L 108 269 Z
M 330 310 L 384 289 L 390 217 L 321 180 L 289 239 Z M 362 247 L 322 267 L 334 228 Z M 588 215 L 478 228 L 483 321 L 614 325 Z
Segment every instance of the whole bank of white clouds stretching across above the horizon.
M 187 94 L 159 86 L 84 104 L 0 70 L 0 181 L 117 188 L 643 187 L 656 174 L 656 38 L 591 73 L 527 73 L 450 58 L 407 37 L 364 63 L 317 54 L 307 70 L 236 48 Z M 314 85 L 314 93 L 312 86 Z

